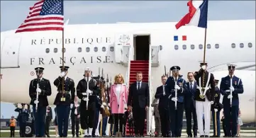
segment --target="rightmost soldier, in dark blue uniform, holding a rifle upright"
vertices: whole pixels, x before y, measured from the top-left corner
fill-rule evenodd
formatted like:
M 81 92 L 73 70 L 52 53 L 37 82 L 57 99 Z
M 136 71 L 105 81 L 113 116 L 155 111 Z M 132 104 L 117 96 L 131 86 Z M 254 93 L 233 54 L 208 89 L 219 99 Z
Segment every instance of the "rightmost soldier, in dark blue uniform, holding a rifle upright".
M 238 129 L 238 94 L 243 93 L 243 82 L 234 75 L 235 64 L 228 64 L 228 76 L 221 79 L 221 94 L 223 95 L 223 110 L 225 117 L 225 125 L 228 137 L 235 137 Z M 232 93 L 230 95 L 230 93 Z M 230 100 L 231 99 L 231 100 Z M 232 120 L 232 126 L 230 126 Z M 230 129 L 232 128 L 232 130 Z M 231 132 L 230 132 L 231 130 Z

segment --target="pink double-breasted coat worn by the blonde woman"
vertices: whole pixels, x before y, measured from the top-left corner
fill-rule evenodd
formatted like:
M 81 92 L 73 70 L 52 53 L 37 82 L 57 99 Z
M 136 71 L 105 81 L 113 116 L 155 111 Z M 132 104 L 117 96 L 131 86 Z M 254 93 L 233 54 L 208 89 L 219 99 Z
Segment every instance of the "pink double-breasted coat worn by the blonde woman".
M 125 108 L 127 108 L 128 100 L 128 90 L 125 84 L 122 84 L 121 93 L 119 96 L 119 108 L 116 97 L 116 84 L 111 86 L 111 95 L 110 95 L 110 108 L 111 113 L 124 113 Z

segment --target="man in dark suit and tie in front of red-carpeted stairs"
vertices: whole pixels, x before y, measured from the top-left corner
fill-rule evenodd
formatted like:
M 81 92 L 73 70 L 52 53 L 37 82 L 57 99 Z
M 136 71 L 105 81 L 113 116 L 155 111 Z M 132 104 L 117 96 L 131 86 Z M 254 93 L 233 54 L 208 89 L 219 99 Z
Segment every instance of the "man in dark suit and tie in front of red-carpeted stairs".
M 133 108 L 136 137 L 139 137 L 139 135 L 144 137 L 145 112 L 148 111 L 150 105 L 150 91 L 148 84 L 142 82 L 142 72 L 137 72 L 136 79 L 137 81 L 130 85 L 127 105 L 129 110 Z

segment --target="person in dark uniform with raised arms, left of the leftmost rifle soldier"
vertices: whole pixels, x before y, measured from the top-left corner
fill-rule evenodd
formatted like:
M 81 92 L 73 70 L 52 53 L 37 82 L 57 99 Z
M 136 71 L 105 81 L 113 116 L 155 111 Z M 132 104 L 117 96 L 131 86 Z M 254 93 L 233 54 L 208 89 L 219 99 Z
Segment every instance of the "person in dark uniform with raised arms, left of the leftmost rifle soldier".
M 28 110 L 24 108 L 25 104 L 22 104 L 23 108 L 16 108 L 16 112 L 18 112 L 18 123 L 20 126 L 20 136 L 21 137 L 26 137 L 25 132 L 26 132 L 26 122 L 28 121 Z

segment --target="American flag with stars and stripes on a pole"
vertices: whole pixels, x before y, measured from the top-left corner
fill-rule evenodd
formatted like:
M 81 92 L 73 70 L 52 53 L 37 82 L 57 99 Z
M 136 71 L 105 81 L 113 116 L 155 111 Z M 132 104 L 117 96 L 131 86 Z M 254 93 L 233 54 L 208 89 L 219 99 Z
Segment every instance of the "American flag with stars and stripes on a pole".
M 41 0 L 30 7 L 30 12 L 15 33 L 40 30 L 63 30 L 63 0 Z

